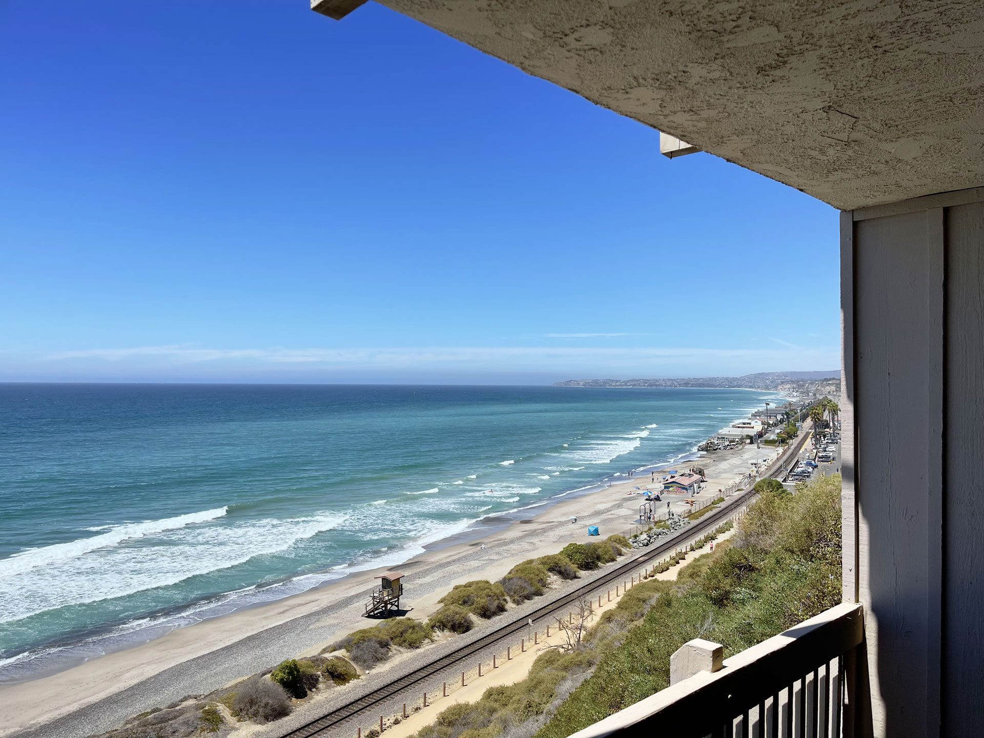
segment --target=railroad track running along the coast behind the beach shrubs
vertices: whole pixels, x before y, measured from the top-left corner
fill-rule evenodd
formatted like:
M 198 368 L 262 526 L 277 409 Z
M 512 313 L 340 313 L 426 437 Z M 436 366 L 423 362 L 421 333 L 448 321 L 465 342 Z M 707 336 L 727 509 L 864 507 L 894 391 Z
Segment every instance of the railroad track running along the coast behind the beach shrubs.
M 763 475 L 763 478 L 774 477 L 774 475 L 779 471 L 780 461 L 796 456 L 803 444 L 806 443 L 806 438 L 808 435 L 809 434 L 804 434 L 804 438 L 795 449 L 791 450 L 791 452 L 787 451 L 786 455 L 777 459 L 769 467 L 769 470 Z M 688 525 L 678 531 L 676 534 L 669 536 L 665 543 L 658 546 L 653 546 L 650 549 L 646 549 L 641 555 L 635 557 L 631 561 L 627 561 L 624 564 L 613 567 L 610 572 L 607 572 L 598 579 L 592 580 L 583 586 L 579 586 L 564 596 L 552 600 L 532 612 L 525 613 L 522 618 L 519 618 L 512 623 L 507 623 L 506 625 L 487 633 L 466 646 L 461 646 L 461 648 L 451 653 L 435 658 L 433 661 L 425 664 L 424 666 L 421 666 L 420 668 L 415 669 L 414 671 L 411 671 L 398 679 L 394 679 L 393 681 L 382 685 L 368 695 L 342 705 L 341 707 L 332 710 L 329 714 L 312 720 L 311 722 L 301 725 L 298 728 L 294 728 L 288 733 L 284 733 L 282 738 L 311 738 L 311 736 L 324 736 L 329 730 L 338 724 L 355 717 L 361 712 L 392 700 L 401 692 L 419 685 L 421 682 L 440 674 L 445 669 L 448 669 L 456 663 L 473 656 L 475 653 L 482 651 L 489 646 L 494 646 L 501 641 L 515 637 L 528 627 L 530 620 L 535 623 L 538 620 L 548 618 L 557 611 L 563 610 L 568 605 L 577 602 L 585 595 L 592 594 L 598 589 L 605 588 L 606 584 L 612 584 L 616 581 L 621 582 L 629 578 L 630 575 L 635 576 L 636 570 L 639 569 L 641 565 L 652 562 L 653 560 L 658 561 L 667 553 L 675 551 L 680 546 L 681 541 L 685 541 L 699 533 L 703 533 L 707 529 L 716 527 L 718 524 L 734 515 L 735 512 L 751 501 L 755 494 L 756 493 L 753 490 L 745 492 L 740 497 L 729 502 L 727 505 L 723 505 L 720 508 L 708 513 L 706 516 L 699 519 L 697 523 L 692 523 L 691 525 Z

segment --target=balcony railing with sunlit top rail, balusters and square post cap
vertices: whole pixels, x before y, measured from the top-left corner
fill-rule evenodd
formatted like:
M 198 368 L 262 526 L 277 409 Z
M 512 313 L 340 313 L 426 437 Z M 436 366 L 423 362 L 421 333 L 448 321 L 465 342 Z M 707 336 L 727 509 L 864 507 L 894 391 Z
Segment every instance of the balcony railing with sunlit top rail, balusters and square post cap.
M 861 605 L 841 604 L 584 728 L 601 736 L 851 736 Z M 716 646 L 691 642 L 691 651 Z M 674 654 L 693 661 L 685 646 Z M 717 646 L 719 649 L 719 646 Z M 682 664 L 686 668 L 686 663 Z M 674 662 L 671 671 L 679 671 Z M 715 669 L 713 671 L 709 669 Z M 693 669 L 691 669 L 693 671 Z

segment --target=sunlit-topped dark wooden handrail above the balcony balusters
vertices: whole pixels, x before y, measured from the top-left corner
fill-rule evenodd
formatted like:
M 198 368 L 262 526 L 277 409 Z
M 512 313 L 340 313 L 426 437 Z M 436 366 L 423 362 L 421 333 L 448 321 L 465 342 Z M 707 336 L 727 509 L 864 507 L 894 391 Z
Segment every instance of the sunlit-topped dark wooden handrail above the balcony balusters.
M 851 652 L 864 639 L 860 604 L 844 603 L 725 659 L 574 733 L 571 738 L 659 734 L 706 736 L 761 705 L 814 669 Z

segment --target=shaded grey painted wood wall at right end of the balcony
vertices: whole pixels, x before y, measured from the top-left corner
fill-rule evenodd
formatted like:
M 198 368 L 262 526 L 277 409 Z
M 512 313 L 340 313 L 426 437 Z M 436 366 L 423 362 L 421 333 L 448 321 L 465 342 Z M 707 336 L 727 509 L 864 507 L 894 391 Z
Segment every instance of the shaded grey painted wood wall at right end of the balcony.
M 862 735 L 984 724 L 982 196 L 841 220 L 844 598 L 866 612 Z

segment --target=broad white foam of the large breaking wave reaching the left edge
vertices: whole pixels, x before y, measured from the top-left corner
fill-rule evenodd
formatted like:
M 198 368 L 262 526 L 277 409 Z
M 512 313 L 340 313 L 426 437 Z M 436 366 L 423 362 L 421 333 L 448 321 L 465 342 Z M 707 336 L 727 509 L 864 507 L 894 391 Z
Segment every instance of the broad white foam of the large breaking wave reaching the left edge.
M 0 578 L 0 623 L 228 569 L 255 556 L 288 549 L 345 519 L 343 514 L 325 513 L 233 525 L 172 526 L 144 533 L 138 545 L 101 547 L 63 557 L 42 568 Z

